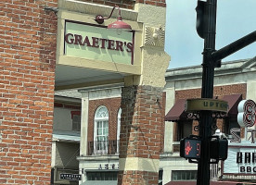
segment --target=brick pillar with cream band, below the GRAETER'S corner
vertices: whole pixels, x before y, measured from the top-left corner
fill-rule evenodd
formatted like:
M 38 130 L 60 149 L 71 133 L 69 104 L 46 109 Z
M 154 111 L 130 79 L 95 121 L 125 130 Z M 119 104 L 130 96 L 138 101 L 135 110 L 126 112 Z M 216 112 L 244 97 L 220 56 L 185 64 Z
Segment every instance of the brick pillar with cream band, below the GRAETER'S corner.
M 158 184 L 162 88 L 122 89 L 119 185 Z

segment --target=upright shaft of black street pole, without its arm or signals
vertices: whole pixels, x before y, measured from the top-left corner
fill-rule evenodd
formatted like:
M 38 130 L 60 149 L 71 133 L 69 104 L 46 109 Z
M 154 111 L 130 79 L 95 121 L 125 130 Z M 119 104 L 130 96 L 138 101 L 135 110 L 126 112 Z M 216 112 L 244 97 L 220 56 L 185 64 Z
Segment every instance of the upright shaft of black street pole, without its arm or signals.
M 211 54 L 215 51 L 216 34 L 216 6 L 217 0 L 207 0 L 204 16 L 204 51 L 203 51 L 203 73 L 202 73 L 202 98 L 212 98 L 214 63 Z M 212 112 L 201 111 L 199 120 L 199 136 L 201 143 L 201 158 L 198 160 L 198 180 L 197 185 L 210 185 L 210 137 L 211 137 Z

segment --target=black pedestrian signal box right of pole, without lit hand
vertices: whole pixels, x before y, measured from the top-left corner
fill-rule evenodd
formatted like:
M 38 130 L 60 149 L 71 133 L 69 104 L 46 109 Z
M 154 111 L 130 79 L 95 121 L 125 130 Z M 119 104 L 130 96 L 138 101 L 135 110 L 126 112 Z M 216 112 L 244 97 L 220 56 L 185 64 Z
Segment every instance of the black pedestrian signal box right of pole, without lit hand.
M 210 158 L 225 160 L 227 158 L 228 141 L 226 138 L 212 137 L 210 141 Z

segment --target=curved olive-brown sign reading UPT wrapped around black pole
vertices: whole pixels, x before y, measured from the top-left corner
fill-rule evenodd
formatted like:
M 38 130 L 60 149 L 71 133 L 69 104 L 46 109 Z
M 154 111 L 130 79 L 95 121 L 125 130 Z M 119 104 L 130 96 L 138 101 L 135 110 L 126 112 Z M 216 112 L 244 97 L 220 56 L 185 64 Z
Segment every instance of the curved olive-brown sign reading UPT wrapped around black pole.
M 186 100 L 186 111 L 194 112 L 200 110 L 211 110 L 216 112 L 227 112 L 228 104 L 223 100 L 216 99 L 187 99 Z

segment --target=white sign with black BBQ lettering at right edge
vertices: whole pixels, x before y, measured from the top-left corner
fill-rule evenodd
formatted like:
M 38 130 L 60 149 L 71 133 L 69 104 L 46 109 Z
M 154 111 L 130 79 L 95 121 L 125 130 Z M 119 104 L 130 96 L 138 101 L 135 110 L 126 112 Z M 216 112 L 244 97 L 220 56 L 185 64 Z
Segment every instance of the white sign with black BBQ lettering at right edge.
M 224 174 L 253 174 L 256 175 L 255 144 L 248 146 L 229 147 L 227 159 L 224 161 Z

